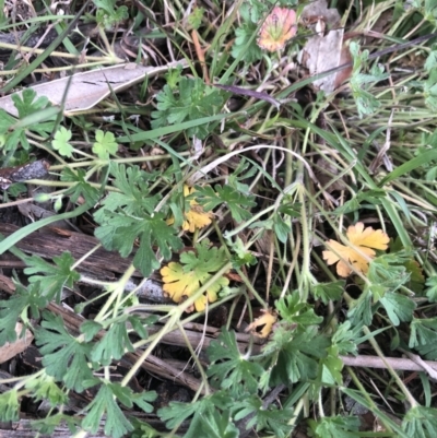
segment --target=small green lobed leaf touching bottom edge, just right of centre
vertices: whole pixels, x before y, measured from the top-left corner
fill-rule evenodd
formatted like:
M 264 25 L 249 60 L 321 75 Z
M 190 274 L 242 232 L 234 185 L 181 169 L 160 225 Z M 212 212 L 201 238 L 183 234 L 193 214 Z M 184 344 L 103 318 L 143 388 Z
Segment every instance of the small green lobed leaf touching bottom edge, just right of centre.
M 235 419 L 239 421 L 251 416 L 247 422 L 246 429 L 255 427 L 257 431 L 271 430 L 277 438 L 288 437 L 294 426 L 290 425 L 290 419 L 293 417 L 293 411 L 290 407 L 277 409 L 271 404 L 269 409 L 264 409 L 262 400 L 256 395 L 246 398 L 244 401 L 236 403 Z

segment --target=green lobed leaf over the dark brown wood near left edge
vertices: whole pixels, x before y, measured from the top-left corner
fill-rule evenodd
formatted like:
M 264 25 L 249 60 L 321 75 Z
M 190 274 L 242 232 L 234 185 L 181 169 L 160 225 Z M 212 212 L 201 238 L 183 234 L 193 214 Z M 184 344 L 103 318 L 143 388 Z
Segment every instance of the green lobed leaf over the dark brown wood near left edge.
M 75 260 L 69 251 L 54 257 L 54 262 L 55 267 L 38 256 L 32 256 L 26 259 L 27 268 L 25 268 L 24 273 L 27 275 L 37 272 L 43 273 L 43 275 L 32 275 L 28 279 L 29 283 L 39 282 L 40 294 L 46 296 L 48 300 L 54 299 L 56 296 L 56 301 L 59 303 L 62 288 L 69 287 L 71 289 L 81 275 L 79 272 L 71 270 Z

